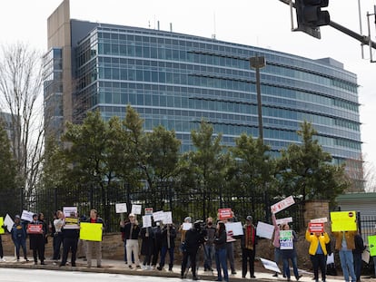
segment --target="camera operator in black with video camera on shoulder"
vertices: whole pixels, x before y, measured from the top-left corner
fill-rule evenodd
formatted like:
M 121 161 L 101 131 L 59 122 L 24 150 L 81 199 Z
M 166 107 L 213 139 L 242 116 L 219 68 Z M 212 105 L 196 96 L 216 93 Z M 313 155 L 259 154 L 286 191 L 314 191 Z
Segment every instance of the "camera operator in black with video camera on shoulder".
M 191 259 L 191 268 L 193 280 L 198 280 L 196 275 L 196 255 L 197 251 L 205 241 L 205 230 L 203 229 L 203 220 L 197 220 L 193 223 L 193 228 L 185 234 L 183 247 L 182 272 L 180 277 L 184 278 L 185 268 L 187 267 L 188 258 Z

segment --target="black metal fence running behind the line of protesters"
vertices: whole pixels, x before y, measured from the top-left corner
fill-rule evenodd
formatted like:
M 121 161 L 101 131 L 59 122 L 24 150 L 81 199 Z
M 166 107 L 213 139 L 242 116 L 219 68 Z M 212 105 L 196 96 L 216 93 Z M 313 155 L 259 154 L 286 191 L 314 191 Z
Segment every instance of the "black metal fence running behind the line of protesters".
M 53 219 L 57 209 L 63 207 L 77 207 L 81 216 L 88 216 L 90 209 L 97 209 L 99 215 L 104 219 L 106 232 L 117 232 L 119 230 L 120 214 L 115 212 L 116 203 L 126 203 L 130 212 L 132 204 L 142 205 L 144 208 L 153 208 L 153 211 L 172 211 L 173 222 L 180 225 L 187 216 L 193 219 L 206 219 L 207 217 L 217 218 L 219 208 L 231 208 L 237 220 L 244 222 L 247 215 L 252 215 L 253 222 L 271 222 L 270 206 L 279 199 L 269 199 L 265 193 L 208 193 L 205 191 L 182 192 L 173 185 L 165 185 L 154 190 L 139 189 L 133 190 L 124 185 L 111 189 L 101 190 L 90 186 L 83 186 L 79 189 L 49 189 L 39 190 L 27 199 L 17 200 L 18 206 L 1 205 L 2 215 L 9 213 L 12 218 L 15 213 L 23 209 L 33 212 L 43 212 L 45 219 Z M 3 195 L 0 191 L 0 199 L 18 198 L 16 195 Z M 4 200 L 5 199 L 5 200 Z M 19 206 L 19 202 L 23 204 Z M 293 229 L 299 231 L 304 229 L 303 205 L 296 199 L 297 204 L 287 210 L 282 210 L 279 218 L 292 217 Z M 15 203 L 15 204 L 17 204 Z M 12 207 L 11 207 L 12 206 Z M 141 221 L 141 219 L 139 219 Z

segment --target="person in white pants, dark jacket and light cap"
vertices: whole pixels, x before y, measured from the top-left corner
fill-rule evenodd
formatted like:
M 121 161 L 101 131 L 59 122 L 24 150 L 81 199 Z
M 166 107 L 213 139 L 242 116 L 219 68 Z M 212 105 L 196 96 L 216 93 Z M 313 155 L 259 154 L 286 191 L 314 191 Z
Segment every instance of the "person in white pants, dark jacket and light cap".
M 140 258 L 138 257 L 139 245 L 138 236 L 140 234 L 140 226 L 135 219 L 135 215 L 130 213 L 128 216 L 129 221 L 124 225 L 124 236 L 126 240 L 126 257 L 128 267 L 132 267 L 132 253 L 134 254 L 134 264 L 136 268 L 140 267 Z

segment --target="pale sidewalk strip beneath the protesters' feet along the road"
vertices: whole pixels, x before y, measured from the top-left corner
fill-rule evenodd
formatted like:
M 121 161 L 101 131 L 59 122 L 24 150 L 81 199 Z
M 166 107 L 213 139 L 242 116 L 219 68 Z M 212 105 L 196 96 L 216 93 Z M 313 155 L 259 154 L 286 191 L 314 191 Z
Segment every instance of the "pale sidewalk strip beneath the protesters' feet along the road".
M 30 258 L 29 258 L 30 259 Z M 143 270 L 141 268 L 129 269 L 127 265 L 124 264 L 122 260 L 113 260 L 113 259 L 102 259 L 102 267 L 96 267 L 95 259 L 92 260 L 92 267 L 88 268 L 86 261 L 82 258 L 76 260 L 76 267 L 71 267 L 70 265 L 65 267 L 59 267 L 54 265 L 52 260 L 45 260 L 45 265 L 34 264 L 33 259 L 29 262 L 26 262 L 23 258 L 20 262 L 17 262 L 14 257 L 5 257 L 5 262 L 0 262 L 0 267 L 14 267 L 14 268 L 29 268 L 29 269 L 49 269 L 49 270 L 65 270 L 65 271 L 83 271 L 83 272 L 98 272 L 98 273 L 114 273 L 114 274 L 126 274 L 126 275 L 137 275 L 137 276 L 154 276 L 154 277 L 180 277 L 181 266 L 176 265 L 173 267 L 173 271 L 168 271 L 167 269 L 163 270 Z M 299 279 L 300 282 L 312 282 L 312 273 L 299 270 L 302 277 Z M 242 278 L 242 270 L 236 270 L 235 275 L 230 275 L 230 281 L 244 281 L 244 280 L 263 280 L 263 281 L 287 281 L 286 278 L 283 278 L 282 275 L 278 277 L 272 277 L 272 271 L 266 270 L 264 272 L 255 272 L 254 276 L 256 278 L 250 278 L 250 274 L 247 274 L 247 277 Z M 203 271 L 203 268 L 199 268 L 198 277 L 201 280 L 210 280 L 213 281 L 216 279 L 216 271 Z M 192 280 L 192 272 L 190 271 L 186 279 L 183 280 Z M 327 282 L 338 282 L 343 280 L 343 277 L 327 277 Z M 376 279 L 367 279 L 368 281 L 376 281 Z M 292 275 L 292 281 L 295 281 L 295 278 Z

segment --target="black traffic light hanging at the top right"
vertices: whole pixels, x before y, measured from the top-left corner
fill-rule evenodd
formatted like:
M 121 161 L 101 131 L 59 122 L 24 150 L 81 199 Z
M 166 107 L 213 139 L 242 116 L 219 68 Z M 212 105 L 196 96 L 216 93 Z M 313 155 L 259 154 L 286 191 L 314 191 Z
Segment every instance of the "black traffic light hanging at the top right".
M 322 11 L 329 0 L 295 0 L 297 30 L 321 38 L 320 26 L 331 22 L 328 11 Z

